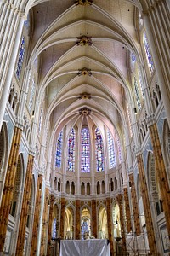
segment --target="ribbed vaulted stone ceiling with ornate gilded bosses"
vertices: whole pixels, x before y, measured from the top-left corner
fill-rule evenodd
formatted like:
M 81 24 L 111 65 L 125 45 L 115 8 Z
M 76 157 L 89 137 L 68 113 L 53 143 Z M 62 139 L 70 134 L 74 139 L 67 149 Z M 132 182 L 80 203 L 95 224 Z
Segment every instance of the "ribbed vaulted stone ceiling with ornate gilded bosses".
M 31 9 L 30 64 L 41 62 L 47 121 L 54 133 L 83 124 L 120 132 L 131 95 L 129 55 L 139 57 L 138 9 L 125 0 L 78 2 L 37 1 Z

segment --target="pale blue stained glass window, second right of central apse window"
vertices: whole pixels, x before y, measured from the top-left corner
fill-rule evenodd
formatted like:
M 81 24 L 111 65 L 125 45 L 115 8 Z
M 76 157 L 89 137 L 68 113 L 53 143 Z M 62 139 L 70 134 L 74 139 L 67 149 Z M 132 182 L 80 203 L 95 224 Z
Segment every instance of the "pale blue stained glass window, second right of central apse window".
M 107 131 L 107 141 L 108 141 L 108 150 L 109 150 L 109 167 L 113 168 L 116 166 L 116 155 L 113 137 L 111 136 L 111 131 Z

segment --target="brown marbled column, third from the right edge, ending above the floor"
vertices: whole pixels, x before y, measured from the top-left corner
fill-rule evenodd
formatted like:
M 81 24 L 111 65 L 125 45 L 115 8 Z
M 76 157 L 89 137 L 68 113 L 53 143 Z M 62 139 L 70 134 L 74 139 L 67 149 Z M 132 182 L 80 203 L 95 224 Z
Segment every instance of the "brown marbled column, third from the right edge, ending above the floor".
M 134 230 L 137 236 L 140 235 L 140 221 L 139 221 L 139 207 L 138 201 L 136 196 L 136 189 L 134 184 L 134 177 L 133 173 L 129 175 L 129 182 L 131 183 L 131 196 L 132 196 L 132 203 L 133 203 L 133 219 L 134 219 Z

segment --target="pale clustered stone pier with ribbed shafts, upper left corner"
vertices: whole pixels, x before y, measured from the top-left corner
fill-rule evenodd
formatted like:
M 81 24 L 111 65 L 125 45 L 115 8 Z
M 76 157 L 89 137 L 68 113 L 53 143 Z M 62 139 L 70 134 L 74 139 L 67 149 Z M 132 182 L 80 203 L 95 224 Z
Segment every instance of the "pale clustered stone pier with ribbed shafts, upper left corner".
M 4 11 L 3 11 L 4 10 Z M 5 3 L 3 5 L 3 25 L 0 26 L 0 34 L 3 35 L 0 49 L 0 130 L 3 123 L 6 104 L 8 102 L 8 92 L 14 73 L 15 61 L 20 47 L 20 38 L 25 17 L 20 9 L 14 4 Z M 2 36 L 1 35 L 1 36 Z M 8 72 L 6 72 L 8 70 Z

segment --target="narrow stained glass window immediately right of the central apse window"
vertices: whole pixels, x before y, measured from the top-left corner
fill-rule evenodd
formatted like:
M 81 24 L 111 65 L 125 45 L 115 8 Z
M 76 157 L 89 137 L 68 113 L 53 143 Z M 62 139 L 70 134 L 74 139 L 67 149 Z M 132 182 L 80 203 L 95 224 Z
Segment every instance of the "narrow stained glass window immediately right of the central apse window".
M 95 154 L 97 172 L 102 172 L 104 171 L 104 147 L 103 140 L 98 128 L 95 129 Z

